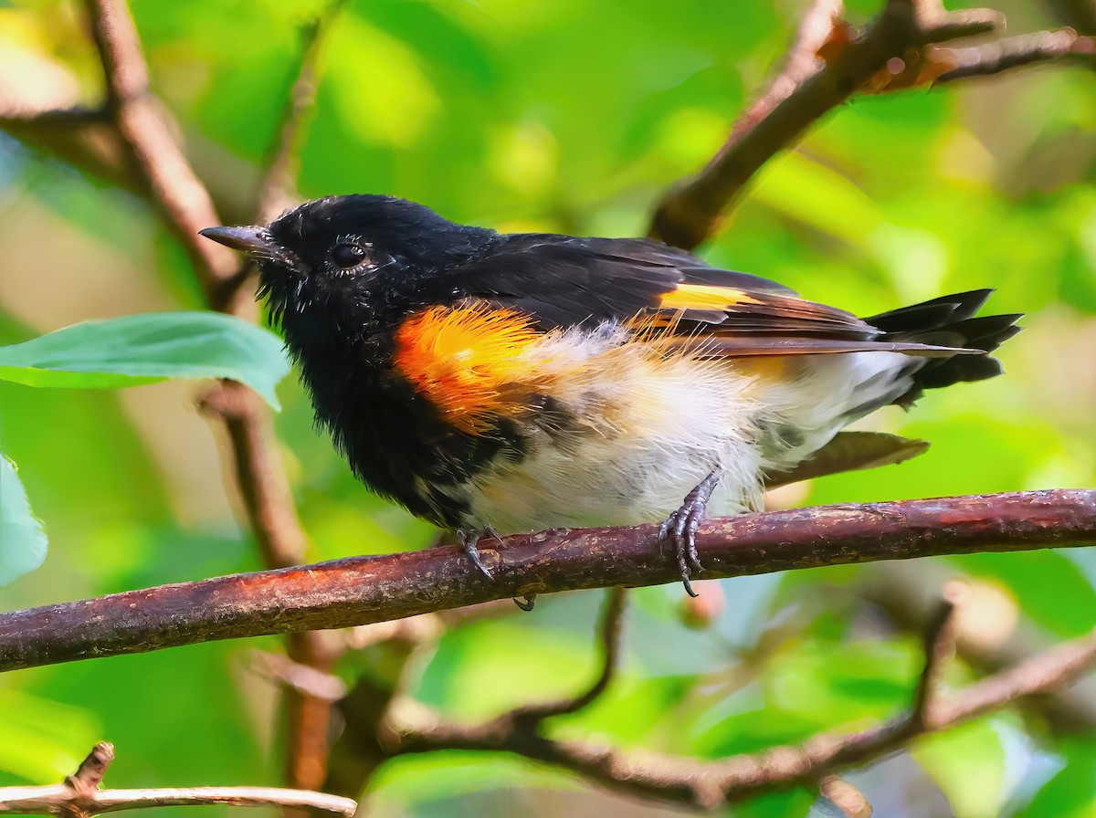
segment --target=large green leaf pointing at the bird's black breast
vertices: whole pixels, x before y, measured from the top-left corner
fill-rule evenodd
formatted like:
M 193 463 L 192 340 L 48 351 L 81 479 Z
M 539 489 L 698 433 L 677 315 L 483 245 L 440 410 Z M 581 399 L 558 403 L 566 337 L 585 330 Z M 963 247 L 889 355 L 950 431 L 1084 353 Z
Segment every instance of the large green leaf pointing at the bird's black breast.
M 216 312 L 157 312 L 87 321 L 0 347 L 0 379 L 28 387 L 110 389 L 168 378 L 229 378 L 278 408 L 289 371 L 273 333 Z

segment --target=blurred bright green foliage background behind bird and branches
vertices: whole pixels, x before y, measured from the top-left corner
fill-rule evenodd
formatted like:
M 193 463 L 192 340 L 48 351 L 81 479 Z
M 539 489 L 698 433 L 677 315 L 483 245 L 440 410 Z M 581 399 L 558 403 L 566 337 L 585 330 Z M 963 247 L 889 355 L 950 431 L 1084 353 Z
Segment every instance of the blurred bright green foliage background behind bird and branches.
M 848 4 L 866 21 L 878 3 Z M 134 0 L 152 85 L 229 223 L 247 220 L 300 60 L 300 0 Z M 1009 31 L 1068 22 L 1003 0 Z M 802 2 L 354 0 L 333 23 L 304 135 L 302 197 L 389 193 L 504 231 L 640 235 L 661 194 L 766 88 Z M 858 97 L 770 162 L 701 254 L 872 314 L 997 289 L 1025 312 L 1007 376 L 932 392 L 864 428 L 924 438 L 901 466 L 783 489 L 772 505 L 1096 485 L 1096 93 L 1053 66 Z M 0 2 L 0 101 L 96 105 L 82 5 Z M 140 198 L 0 134 L 0 343 L 133 312 L 202 309 L 187 258 Z M 261 567 L 199 384 L 122 392 L 0 383 L 0 448 L 50 538 L 0 588 L 5 610 Z M 299 387 L 276 418 L 310 560 L 423 546 L 436 532 L 356 484 Z M 620 672 L 560 735 L 722 758 L 901 711 L 941 585 L 966 577 L 955 684 L 1096 624 L 1088 551 L 975 555 L 631 595 Z M 401 654 L 402 691 L 463 721 L 558 698 L 596 672 L 601 592 L 446 629 Z M 276 784 L 270 638 L 0 677 L 0 784 L 52 783 L 95 740 L 111 786 Z M 372 650 L 372 653 L 370 653 Z M 399 652 L 396 652 L 399 653 Z M 406 653 L 406 652 L 404 652 Z M 353 684 L 384 643 L 336 669 Z M 335 725 L 338 729 L 338 723 Z M 879 816 L 1096 813 L 1096 688 L 920 741 L 849 780 Z M 363 781 L 363 783 L 365 783 Z M 733 815 L 802 816 L 794 791 Z M 218 808 L 219 809 L 219 808 Z M 374 816 L 655 816 L 529 762 L 434 753 L 384 763 Z M 210 808 L 210 811 L 215 811 Z

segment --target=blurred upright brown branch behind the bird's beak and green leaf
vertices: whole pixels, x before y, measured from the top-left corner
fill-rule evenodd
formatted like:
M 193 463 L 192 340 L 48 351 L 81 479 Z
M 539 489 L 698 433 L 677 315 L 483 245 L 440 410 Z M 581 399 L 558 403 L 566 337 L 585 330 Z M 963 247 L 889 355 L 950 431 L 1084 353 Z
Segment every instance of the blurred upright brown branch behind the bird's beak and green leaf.
M 88 0 L 88 11 L 106 80 L 106 110 L 129 151 L 135 175 L 147 182 L 164 222 L 190 254 L 210 306 L 246 315 L 252 300 L 240 290 L 243 276 L 237 260 L 197 234 L 220 219 L 149 92 L 148 68 L 128 8 L 124 0 Z M 207 393 L 203 405 L 219 415 L 228 430 L 237 483 L 265 564 L 277 568 L 300 563 L 307 539 L 266 408 L 252 391 L 232 382 Z M 292 634 L 287 653 L 292 661 L 318 672 L 328 671 L 334 660 L 315 633 Z M 330 702 L 290 688 L 286 707 L 287 780 L 313 788 L 326 774 Z

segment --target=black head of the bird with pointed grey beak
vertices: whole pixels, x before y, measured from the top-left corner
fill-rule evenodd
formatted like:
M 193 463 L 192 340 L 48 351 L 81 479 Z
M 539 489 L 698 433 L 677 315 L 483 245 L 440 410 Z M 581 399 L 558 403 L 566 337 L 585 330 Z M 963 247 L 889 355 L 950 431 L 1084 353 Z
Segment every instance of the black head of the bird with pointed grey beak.
M 206 228 L 202 235 L 252 256 L 290 347 L 322 321 L 356 336 L 439 296 L 444 269 L 467 262 L 492 230 L 448 221 L 395 196 L 329 196 L 270 224 Z M 399 314 L 398 314 L 399 313 Z

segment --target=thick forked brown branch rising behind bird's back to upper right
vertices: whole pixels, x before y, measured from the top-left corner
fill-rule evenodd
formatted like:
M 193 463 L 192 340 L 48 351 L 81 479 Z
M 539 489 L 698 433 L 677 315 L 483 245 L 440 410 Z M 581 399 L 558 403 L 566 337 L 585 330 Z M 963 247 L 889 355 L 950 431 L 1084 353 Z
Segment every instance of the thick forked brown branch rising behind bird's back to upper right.
M 1072 39 L 1062 32 L 1042 32 L 977 48 L 934 49 L 933 44 L 985 34 L 1004 24 L 998 12 L 947 12 L 935 0 L 888 0 L 880 16 L 859 35 L 840 14 L 840 2 L 817 0 L 785 70 L 739 118 L 707 166 L 666 192 L 655 208 L 649 235 L 686 250 L 696 247 L 765 162 L 860 91 L 928 84 L 940 73 L 944 82 L 997 73 L 1087 55 L 1092 45 L 1089 38 L 1072 32 Z M 941 60 L 955 60 L 957 67 Z M 892 79 L 892 72 L 901 76 Z

